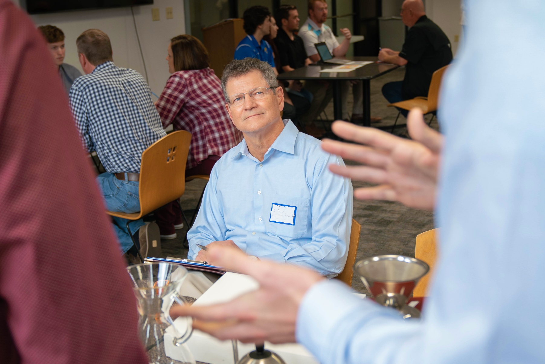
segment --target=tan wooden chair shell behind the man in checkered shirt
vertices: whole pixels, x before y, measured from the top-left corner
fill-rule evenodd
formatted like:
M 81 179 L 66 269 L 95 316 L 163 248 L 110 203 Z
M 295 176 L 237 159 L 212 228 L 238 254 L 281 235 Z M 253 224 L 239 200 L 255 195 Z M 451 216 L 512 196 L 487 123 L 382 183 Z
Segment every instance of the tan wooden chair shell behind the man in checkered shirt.
M 191 133 L 178 130 L 167 134 L 142 153 L 140 166 L 140 212 L 107 211 L 111 216 L 137 220 L 175 201 L 185 191 L 185 163 Z

